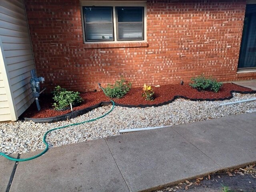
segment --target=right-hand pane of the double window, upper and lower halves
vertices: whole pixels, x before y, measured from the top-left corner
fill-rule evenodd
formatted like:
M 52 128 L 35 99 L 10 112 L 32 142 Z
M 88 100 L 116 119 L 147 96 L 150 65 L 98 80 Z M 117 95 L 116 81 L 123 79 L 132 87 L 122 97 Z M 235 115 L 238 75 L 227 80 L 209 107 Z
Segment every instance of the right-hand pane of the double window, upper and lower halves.
M 116 7 L 118 40 L 143 40 L 144 7 Z

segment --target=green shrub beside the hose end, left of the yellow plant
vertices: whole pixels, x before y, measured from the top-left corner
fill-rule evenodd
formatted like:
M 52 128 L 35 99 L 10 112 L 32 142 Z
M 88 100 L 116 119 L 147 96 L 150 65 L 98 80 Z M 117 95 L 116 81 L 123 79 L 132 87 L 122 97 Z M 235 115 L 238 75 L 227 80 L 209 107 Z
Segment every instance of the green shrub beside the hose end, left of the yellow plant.
M 132 88 L 131 82 L 126 82 L 124 78 L 117 80 L 114 85 L 108 84 L 104 88 L 104 93 L 110 98 L 122 98 Z

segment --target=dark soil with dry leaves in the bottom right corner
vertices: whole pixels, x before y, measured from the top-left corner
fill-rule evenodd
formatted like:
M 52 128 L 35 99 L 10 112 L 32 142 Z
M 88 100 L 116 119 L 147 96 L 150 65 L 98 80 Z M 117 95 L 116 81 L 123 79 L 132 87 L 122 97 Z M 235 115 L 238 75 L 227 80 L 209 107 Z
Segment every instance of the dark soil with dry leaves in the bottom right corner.
M 233 176 L 229 176 L 227 173 L 213 174 L 210 175 L 210 179 L 208 176 L 204 177 L 201 180 L 200 185 L 192 185 L 185 189 L 185 184 L 180 185 L 182 189 L 176 189 L 176 186 L 170 186 L 169 188 L 176 189 L 175 192 L 223 192 L 223 186 L 228 187 L 228 192 L 256 192 L 256 172 L 254 167 L 254 173 L 252 174 L 235 174 L 232 172 Z M 206 180 L 207 178 L 207 180 Z M 195 182 L 196 180 L 189 180 L 189 182 Z M 186 183 L 184 181 L 184 183 Z M 178 185 L 179 186 L 179 185 Z M 167 188 L 163 188 L 161 190 L 157 190 L 154 192 L 168 192 Z M 172 190 L 172 192 L 174 192 Z

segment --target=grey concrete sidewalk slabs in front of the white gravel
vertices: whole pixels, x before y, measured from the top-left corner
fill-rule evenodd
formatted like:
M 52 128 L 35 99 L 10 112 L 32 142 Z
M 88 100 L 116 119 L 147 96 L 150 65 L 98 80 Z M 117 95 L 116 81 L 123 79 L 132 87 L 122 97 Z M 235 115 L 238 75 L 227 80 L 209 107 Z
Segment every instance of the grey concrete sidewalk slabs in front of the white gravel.
M 55 147 L 15 170 L 0 157 L 0 191 L 12 171 L 10 192 L 137 192 L 255 161 L 250 113 Z

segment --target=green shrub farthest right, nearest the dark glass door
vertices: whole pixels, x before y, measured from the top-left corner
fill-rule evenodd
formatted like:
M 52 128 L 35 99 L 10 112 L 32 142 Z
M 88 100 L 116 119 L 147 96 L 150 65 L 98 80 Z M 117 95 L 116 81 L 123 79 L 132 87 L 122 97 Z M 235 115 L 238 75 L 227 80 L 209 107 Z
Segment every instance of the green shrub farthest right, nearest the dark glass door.
M 191 78 L 194 83 L 190 83 L 189 85 L 192 88 L 196 88 L 197 90 L 207 90 L 218 92 L 220 87 L 222 86 L 222 82 L 217 82 L 215 79 L 206 78 L 203 75 L 198 77 Z

